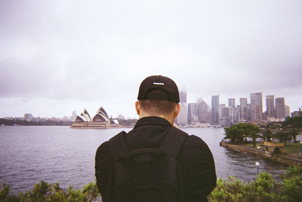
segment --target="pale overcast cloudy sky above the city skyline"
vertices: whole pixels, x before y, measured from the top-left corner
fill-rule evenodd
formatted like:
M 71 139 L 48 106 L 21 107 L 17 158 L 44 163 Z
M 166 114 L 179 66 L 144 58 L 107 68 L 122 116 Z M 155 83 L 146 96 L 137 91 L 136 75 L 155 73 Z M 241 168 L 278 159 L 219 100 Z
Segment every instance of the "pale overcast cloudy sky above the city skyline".
M 138 118 L 140 83 L 188 103 L 219 95 L 302 105 L 302 1 L 0 0 L 0 117 Z

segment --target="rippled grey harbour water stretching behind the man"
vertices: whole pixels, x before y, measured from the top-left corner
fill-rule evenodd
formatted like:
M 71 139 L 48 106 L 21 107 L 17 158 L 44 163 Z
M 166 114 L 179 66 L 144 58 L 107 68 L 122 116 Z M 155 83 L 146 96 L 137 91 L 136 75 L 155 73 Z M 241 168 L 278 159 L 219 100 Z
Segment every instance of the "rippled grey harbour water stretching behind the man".
M 0 183 L 9 184 L 11 193 L 31 190 L 43 180 L 59 181 L 60 187 L 74 185 L 83 188 L 95 181 L 95 152 L 98 146 L 124 129 L 70 129 L 64 126 L 1 126 Z M 261 157 L 220 147 L 223 128 L 182 128 L 188 134 L 201 137 L 210 147 L 217 177 L 233 175 L 249 182 L 259 171 L 277 177 L 287 165 Z M 300 137 L 299 137 L 300 138 Z

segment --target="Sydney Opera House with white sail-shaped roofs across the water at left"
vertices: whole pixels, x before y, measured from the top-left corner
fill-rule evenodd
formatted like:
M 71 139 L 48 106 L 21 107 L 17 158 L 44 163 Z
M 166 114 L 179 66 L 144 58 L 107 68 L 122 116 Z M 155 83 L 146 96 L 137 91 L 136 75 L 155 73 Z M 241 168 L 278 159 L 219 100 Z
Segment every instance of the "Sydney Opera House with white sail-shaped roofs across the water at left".
M 107 112 L 103 107 L 98 109 L 98 112 L 93 118 L 90 117 L 86 109 L 76 116 L 76 120 L 72 123 L 70 128 L 114 128 L 118 127 L 117 120 L 111 120 L 108 118 Z

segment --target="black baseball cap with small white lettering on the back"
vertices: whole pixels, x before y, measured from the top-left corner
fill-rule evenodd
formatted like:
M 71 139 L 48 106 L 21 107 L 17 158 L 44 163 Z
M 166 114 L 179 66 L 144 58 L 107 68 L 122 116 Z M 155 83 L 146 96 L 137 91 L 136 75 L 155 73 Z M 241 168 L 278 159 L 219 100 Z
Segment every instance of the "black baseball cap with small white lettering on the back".
M 165 95 L 150 93 L 150 90 L 154 88 L 164 89 L 166 91 Z M 140 84 L 137 99 L 158 99 L 179 103 L 179 92 L 176 83 L 172 79 L 161 75 L 149 76 Z

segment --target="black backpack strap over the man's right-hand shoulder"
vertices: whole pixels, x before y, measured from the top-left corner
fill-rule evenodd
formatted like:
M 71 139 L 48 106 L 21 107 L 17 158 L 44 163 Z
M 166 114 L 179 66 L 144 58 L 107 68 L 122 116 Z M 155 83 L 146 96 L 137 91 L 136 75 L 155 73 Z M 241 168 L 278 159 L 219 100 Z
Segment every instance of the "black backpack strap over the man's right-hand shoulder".
M 175 159 L 187 138 L 188 133 L 171 126 L 159 149 Z

